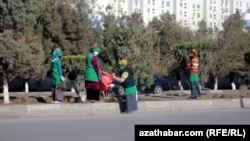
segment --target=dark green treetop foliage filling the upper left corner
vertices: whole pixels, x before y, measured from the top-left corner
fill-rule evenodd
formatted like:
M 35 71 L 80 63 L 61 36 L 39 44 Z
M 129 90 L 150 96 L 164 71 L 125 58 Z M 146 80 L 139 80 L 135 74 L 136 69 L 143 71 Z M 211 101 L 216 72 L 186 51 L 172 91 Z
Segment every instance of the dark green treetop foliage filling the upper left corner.
M 0 31 L 15 29 L 23 32 L 36 24 L 42 2 L 35 0 L 5 0 L 0 2 Z

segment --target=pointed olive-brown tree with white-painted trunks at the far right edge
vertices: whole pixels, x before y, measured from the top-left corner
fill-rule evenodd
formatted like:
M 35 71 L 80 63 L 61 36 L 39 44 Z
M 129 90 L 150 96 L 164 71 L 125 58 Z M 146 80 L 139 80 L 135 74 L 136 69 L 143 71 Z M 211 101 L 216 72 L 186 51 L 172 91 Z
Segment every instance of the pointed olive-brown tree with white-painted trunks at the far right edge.
M 229 76 L 240 73 L 244 69 L 244 54 L 249 44 L 247 33 L 242 31 L 241 17 L 239 11 L 229 17 L 223 23 L 223 31 L 218 33 L 216 44 L 218 49 L 213 56 L 211 74 L 217 82 L 219 76 Z M 231 79 L 232 89 L 235 89 L 235 82 Z M 218 84 L 215 83 L 214 89 Z

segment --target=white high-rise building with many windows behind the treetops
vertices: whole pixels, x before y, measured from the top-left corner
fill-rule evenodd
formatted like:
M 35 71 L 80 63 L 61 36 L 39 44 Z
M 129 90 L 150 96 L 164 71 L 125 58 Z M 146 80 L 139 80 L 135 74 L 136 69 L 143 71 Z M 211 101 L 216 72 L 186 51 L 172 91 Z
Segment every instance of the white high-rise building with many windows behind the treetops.
M 176 16 L 176 21 L 183 27 L 197 30 L 200 21 L 207 27 L 222 30 L 222 23 L 239 10 L 242 16 L 250 9 L 250 0 L 88 0 L 93 8 L 93 15 L 98 12 L 112 12 L 117 17 L 141 13 L 147 25 L 154 17 L 159 18 L 169 12 Z M 109 8 L 107 8 L 109 7 Z M 112 7 L 112 9 L 110 9 Z

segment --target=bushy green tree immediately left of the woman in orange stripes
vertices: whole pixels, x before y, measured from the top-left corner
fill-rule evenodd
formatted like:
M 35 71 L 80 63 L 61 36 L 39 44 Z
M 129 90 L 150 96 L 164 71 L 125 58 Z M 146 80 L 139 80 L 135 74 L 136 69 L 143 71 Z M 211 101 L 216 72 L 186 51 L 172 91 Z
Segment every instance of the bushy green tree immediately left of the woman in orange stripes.
M 154 29 L 154 67 L 158 67 L 157 73 L 160 75 L 174 75 L 180 89 L 182 71 L 179 69 L 178 60 L 175 58 L 174 46 L 176 44 L 193 41 L 193 33 L 186 28 L 182 28 L 175 20 L 175 15 L 169 13 L 162 14 L 159 19 L 154 18 L 149 23 L 149 27 Z M 156 58 L 157 57 L 157 58 Z

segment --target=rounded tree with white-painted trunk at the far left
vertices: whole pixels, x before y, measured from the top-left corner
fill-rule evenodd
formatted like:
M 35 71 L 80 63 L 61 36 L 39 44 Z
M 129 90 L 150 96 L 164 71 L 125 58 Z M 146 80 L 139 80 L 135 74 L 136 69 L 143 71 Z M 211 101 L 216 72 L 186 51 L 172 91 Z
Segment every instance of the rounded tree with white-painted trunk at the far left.
M 44 53 L 36 36 L 11 30 L 5 30 L 0 35 L 0 50 L 4 103 L 9 103 L 9 81 L 16 77 L 41 78 L 44 74 Z

